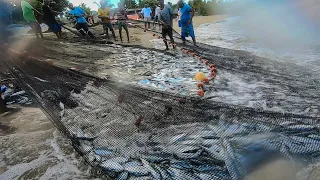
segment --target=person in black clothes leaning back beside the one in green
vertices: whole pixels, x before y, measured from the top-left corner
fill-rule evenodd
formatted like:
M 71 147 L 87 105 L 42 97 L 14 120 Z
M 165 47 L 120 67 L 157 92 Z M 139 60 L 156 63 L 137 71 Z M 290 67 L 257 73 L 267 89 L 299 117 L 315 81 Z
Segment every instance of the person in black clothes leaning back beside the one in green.
M 42 12 L 43 12 L 43 21 L 49 27 L 49 30 L 52 31 L 58 39 L 62 38 L 61 35 L 61 25 L 57 22 L 55 16 L 57 14 L 61 14 L 61 12 L 53 11 L 50 8 L 50 0 L 44 0 L 42 4 Z

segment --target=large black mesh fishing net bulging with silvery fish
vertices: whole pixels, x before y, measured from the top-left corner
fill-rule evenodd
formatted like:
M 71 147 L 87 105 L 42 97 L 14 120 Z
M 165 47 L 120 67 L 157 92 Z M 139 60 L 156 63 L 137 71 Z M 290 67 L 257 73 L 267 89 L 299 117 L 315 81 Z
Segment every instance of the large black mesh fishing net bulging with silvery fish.
M 101 79 L 12 51 L 1 53 L 0 75 L 14 78 L 99 177 L 235 180 L 273 157 L 304 167 L 319 162 L 319 81 L 311 73 L 269 69 L 261 58 L 203 44 L 185 48 L 216 64 L 223 77 L 206 99 Z M 219 96 L 228 88 L 233 95 L 230 74 L 272 84 L 255 89 L 261 99 L 272 97 L 270 109 Z M 274 105 L 281 111 L 271 111 L 271 102 L 281 102 Z

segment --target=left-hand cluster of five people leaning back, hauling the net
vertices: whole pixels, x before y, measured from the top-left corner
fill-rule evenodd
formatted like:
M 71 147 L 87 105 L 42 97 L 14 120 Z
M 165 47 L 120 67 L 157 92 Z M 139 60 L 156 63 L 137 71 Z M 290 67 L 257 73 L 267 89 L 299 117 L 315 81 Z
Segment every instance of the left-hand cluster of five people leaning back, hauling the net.
M 48 25 L 49 30 L 56 34 L 58 38 L 62 38 L 61 34 L 61 29 L 62 26 L 60 23 L 57 22 L 56 16 L 59 14 L 62 14 L 61 12 L 56 12 L 52 10 L 50 7 L 50 0 L 44 0 L 43 5 L 42 5 L 42 13 L 41 14 L 39 11 L 37 11 L 35 8 L 31 6 L 27 0 L 22 0 L 21 1 L 21 9 L 23 12 L 23 17 L 25 21 L 30 25 L 32 30 L 35 32 L 35 35 L 37 38 L 39 36 L 43 38 L 42 30 L 40 27 L 40 24 L 36 18 L 36 14 L 38 15 L 43 15 L 43 21 L 45 24 Z M 108 36 L 108 29 L 112 32 L 112 35 L 114 39 L 116 40 L 116 36 L 114 33 L 113 26 L 110 21 L 110 7 L 107 6 L 107 1 L 106 0 L 101 0 L 100 1 L 101 7 L 98 9 L 98 15 L 99 18 L 101 18 L 101 21 L 103 23 L 103 28 L 106 30 L 107 36 Z M 95 38 L 95 35 L 89 30 L 88 23 L 86 20 L 86 12 L 79 6 L 74 6 L 72 3 L 69 4 L 69 14 L 72 18 L 76 20 L 76 29 L 79 31 L 81 35 L 84 37 L 89 36 L 90 38 Z M 119 29 L 119 34 L 120 34 L 120 39 L 122 41 L 122 28 L 125 29 L 127 33 L 127 40 L 129 42 L 129 31 L 127 27 L 127 13 L 125 9 L 123 8 L 122 4 L 118 4 L 118 10 L 117 10 L 117 25 Z M 108 37 L 109 38 L 109 37 Z

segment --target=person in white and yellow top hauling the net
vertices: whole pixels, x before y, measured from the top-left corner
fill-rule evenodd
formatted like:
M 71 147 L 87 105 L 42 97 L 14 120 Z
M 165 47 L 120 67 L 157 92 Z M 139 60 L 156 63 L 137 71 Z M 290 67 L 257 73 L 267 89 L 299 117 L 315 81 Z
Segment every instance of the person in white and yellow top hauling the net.
M 108 29 L 110 29 L 114 40 L 117 41 L 109 15 L 110 15 L 110 7 L 107 6 L 106 0 L 101 0 L 100 8 L 98 9 L 98 17 L 102 21 L 103 29 L 106 31 L 107 38 L 109 39 Z

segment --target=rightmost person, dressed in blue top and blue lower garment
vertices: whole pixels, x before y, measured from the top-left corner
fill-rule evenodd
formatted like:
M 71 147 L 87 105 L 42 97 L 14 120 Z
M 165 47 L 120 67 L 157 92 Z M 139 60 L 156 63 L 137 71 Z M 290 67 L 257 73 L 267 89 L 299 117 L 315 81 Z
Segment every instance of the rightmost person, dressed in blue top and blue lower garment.
M 186 43 L 186 37 L 191 36 L 193 44 L 196 45 L 196 38 L 194 35 L 192 18 L 194 16 L 194 10 L 188 4 L 184 3 L 183 0 L 178 1 L 178 7 L 180 8 L 180 25 L 181 25 L 181 39 L 183 44 Z

